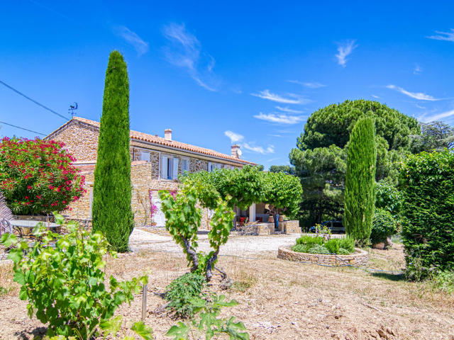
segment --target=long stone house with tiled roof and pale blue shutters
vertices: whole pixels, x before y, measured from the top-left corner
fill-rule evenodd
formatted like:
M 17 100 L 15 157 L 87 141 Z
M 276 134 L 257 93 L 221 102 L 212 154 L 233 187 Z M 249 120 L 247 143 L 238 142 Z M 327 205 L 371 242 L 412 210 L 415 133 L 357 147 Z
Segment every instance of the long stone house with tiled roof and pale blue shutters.
M 157 226 L 165 225 L 164 215 L 160 211 L 160 190 L 176 191 L 178 177 L 196 171 L 214 169 L 240 169 L 252 162 L 240 159 L 240 147 L 231 146 L 231 154 L 222 154 L 211 149 L 196 147 L 172 140 L 172 130 L 165 130 L 164 137 L 149 135 L 131 130 L 131 183 L 133 197 L 131 206 L 135 225 L 150 225 L 150 202 L 157 206 L 153 216 Z M 99 137 L 99 122 L 86 118 L 74 117 L 60 128 L 50 133 L 45 139 L 64 142 L 65 147 L 76 159 L 77 166 L 85 176 L 87 193 L 70 205 L 65 211 L 67 218 L 87 220 L 92 216 L 94 167 L 96 165 Z M 245 212 L 237 211 L 237 215 Z M 253 215 L 250 215 L 253 214 Z M 255 205 L 248 215 L 255 220 Z M 201 228 L 209 229 L 210 211 L 204 210 Z

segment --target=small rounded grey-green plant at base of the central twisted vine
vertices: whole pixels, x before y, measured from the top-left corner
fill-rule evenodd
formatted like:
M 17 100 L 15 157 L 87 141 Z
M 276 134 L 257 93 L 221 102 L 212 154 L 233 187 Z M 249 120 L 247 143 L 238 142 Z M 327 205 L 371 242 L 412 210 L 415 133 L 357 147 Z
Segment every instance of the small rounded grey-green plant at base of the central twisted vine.
M 167 307 L 178 317 L 192 317 L 194 312 L 204 305 L 203 293 L 206 280 L 197 273 L 186 273 L 167 285 L 165 299 Z

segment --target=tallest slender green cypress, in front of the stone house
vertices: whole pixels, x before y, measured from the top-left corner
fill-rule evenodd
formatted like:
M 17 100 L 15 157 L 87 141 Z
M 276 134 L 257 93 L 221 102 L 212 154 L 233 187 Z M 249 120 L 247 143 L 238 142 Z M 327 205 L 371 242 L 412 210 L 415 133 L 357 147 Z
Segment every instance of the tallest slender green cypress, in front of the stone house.
M 116 251 L 128 251 L 134 220 L 131 210 L 129 81 L 120 52 L 111 52 L 106 70 L 98 158 L 94 169 L 93 231 Z

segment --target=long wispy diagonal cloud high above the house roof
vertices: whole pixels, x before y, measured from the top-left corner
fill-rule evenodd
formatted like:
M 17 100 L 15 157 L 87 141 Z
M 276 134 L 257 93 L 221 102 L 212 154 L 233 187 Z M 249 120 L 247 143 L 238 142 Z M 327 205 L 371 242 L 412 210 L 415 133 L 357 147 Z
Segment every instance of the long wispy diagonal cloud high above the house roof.
M 209 91 L 218 91 L 218 81 L 213 72 L 215 60 L 204 52 L 195 35 L 184 24 L 170 23 L 163 28 L 168 44 L 164 47 L 165 58 L 170 64 L 186 69 L 199 86 Z

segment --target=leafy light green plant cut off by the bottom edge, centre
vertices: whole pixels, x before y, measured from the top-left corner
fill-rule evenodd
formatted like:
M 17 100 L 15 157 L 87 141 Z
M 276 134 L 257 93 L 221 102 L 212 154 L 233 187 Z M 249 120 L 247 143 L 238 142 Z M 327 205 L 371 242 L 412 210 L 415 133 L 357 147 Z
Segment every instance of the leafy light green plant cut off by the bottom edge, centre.
M 226 301 L 224 295 L 212 295 L 210 301 L 199 307 L 200 312 L 198 319 L 193 319 L 190 324 L 178 322 L 167 331 L 167 336 L 174 340 L 196 340 L 201 339 L 199 336 L 205 335 L 206 340 L 218 339 L 221 334 L 226 334 L 231 340 L 249 340 L 249 334 L 245 331 L 243 322 L 235 322 L 235 317 L 223 319 L 219 317 L 222 307 L 233 307 L 238 302 L 231 300 Z M 244 331 L 244 332 L 242 332 Z

